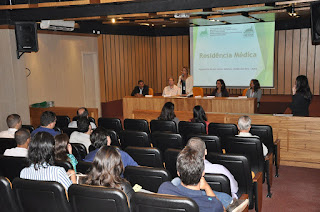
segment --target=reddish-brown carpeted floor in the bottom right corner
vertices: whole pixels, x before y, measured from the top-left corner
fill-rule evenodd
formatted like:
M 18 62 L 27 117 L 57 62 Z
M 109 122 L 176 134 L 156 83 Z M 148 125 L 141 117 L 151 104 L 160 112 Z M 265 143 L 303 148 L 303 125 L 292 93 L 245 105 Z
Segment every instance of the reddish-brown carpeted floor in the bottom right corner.
M 279 175 L 273 178 L 272 198 L 263 184 L 262 211 L 320 212 L 320 169 L 280 166 Z

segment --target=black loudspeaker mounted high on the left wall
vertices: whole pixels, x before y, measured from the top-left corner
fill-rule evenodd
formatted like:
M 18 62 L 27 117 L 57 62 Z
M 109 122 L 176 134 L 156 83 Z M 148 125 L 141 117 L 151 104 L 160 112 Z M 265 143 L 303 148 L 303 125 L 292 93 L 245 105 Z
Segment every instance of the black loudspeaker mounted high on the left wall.
M 18 58 L 19 52 L 37 52 L 39 50 L 37 24 L 35 22 L 16 22 L 15 26 Z

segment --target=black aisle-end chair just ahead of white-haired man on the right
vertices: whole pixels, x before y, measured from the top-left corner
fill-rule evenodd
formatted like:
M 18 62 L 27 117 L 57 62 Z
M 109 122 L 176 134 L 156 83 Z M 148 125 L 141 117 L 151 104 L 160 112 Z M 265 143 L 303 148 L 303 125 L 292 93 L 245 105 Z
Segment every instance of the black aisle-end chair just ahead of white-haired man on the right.
M 250 133 L 252 135 L 257 135 L 260 140 L 268 148 L 268 152 L 272 152 L 274 156 L 274 162 L 276 166 L 276 177 L 279 176 L 279 166 L 280 166 L 280 140 L 273 140 L 272 127 L 270 125 L 256 125 L 252 124 Z

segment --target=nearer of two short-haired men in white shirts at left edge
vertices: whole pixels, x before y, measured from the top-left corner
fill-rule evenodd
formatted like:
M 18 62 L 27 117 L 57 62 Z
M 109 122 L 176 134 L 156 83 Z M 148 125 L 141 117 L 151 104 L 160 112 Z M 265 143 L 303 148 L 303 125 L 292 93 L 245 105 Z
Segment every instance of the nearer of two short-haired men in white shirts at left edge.
M 13 157 L 28 157 L 28 146 L 30 143 L 30 132 L 27 129 L 21 128 L 14 134 L 14 139 L 17 142 L 17 147 L 7 149 L 3 155 Z

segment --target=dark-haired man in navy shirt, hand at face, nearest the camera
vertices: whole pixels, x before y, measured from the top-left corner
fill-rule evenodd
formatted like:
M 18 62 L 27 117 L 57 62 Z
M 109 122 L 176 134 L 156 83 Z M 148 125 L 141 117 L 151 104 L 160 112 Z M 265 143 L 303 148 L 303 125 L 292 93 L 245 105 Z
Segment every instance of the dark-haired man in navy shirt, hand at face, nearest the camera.
M 203 177 L 203 158 L 204 155 L 200 155 L 196 150 L 188 146 L 185 147 L 177 157 L 177 172 L 181 182 L 179 184 L 164 182 L 159 187 L 158 193 L 189 197 L 198 204 L 202 212 L 224 211 L 222 202 L 217 199 L 217 196 Z M 223 198 L 225 200 L 222 201 L 231 203 L 232 198 L 230 196 L 228 198 L 228 196 L 224 194 Z M 227 211 L 242 211 L 248 203 L 248 200 L 234 200 L 232 204 L 229 204 Z M 236 207 L 236 210 L 233 210 L 234 207 Z

